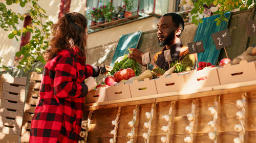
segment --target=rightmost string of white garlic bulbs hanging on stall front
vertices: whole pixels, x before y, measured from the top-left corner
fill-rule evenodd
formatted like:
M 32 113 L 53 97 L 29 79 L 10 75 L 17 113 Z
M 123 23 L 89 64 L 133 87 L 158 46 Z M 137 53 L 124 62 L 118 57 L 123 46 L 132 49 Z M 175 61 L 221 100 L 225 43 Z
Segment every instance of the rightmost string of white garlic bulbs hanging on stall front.
M 236 113 L 237 115 L 237 119 L 239 120 L 240 124 L 237 124 L 234 126 L 234 130 L 240 132 L 239 133 L 239 137 L 237 138 L 234 138 L 234 143 L 237 143 L 237 142 L 241 142 L 243 143 L 244 142 L 244 136 L 245 136 L 245 113 L 246 113 L 246 110 L 245 110 L 245 106 L 246 106 L 246 96 L 247 96 L 247 93 L 243 93 L 242 94 L 242 100 L 238 100 L 237 101 L 237 107 L 240 109 L 242 108 L 242 111 L 238 111 Z

